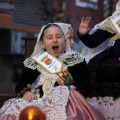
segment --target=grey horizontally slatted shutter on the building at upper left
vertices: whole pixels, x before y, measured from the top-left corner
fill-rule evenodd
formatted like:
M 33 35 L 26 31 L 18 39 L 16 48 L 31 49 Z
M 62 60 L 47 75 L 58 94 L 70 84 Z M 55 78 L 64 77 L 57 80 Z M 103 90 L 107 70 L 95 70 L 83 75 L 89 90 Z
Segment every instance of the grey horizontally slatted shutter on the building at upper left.
M 40 28 L 53 16 L 52 0 L 12 0 L 13 23 Z

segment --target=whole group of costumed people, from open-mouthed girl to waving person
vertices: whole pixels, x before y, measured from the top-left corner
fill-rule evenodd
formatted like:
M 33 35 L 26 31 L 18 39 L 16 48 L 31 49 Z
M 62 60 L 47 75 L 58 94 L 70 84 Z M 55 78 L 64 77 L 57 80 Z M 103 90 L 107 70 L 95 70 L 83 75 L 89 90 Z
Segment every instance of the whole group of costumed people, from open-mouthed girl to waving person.
M 46 120 L 120 120 L 120 38 L 109 26 L 110 18 L 120 14 L 119 4 L 92 34 L 91 17 L 82 18 L 77 35 L 88 50 L 105 43 L 87 54 L 89 61 L 73 49 L 71 24 L 42 26 L 33 53 L 23 62 L 16 98 L 4 103 L 0 119 L 18 120 L 25 108 L 35 106 Z

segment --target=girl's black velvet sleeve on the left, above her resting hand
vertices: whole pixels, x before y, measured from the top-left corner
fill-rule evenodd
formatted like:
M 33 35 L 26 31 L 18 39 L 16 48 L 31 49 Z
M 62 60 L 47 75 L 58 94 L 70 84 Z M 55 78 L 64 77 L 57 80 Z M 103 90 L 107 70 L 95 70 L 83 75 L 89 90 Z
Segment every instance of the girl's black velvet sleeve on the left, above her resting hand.
M 23 66 L 20 80 L 15 87 L 16 94 L 20 93 L 28 84 L 32 84 L 39 74 L 37 70 L 32 70 Z

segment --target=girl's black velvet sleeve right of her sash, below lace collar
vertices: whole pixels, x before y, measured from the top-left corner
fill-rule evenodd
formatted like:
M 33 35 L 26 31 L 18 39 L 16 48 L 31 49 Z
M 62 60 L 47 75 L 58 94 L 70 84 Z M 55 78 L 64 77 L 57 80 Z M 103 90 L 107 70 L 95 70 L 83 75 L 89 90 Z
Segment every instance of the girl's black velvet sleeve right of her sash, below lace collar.
M 84 96 L 89 97 L 94 86 L 88 66 L 85 61 L 68 68 L 73 80 L 77 83 L 77 90 Z

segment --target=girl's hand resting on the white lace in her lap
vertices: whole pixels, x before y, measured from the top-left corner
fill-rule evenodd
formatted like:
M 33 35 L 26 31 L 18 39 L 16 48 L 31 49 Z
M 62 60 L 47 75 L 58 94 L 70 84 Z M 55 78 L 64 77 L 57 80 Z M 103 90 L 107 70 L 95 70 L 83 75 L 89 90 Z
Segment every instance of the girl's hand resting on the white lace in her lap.
M 31 102 L 32 100 L 37 100 L 37 96 L 30 91 L 26 91 L 26 93 L 23 95 L 23 99 Z

